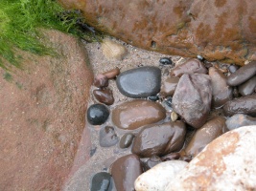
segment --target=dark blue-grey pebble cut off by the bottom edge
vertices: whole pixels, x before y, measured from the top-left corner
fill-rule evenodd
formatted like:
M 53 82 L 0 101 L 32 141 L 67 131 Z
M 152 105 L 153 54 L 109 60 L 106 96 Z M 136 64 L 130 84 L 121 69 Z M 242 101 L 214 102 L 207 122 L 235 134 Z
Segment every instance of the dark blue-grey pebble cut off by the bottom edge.
M 112 191 L 112 181 L 112 177 L 109 173 L 97 173 L 91 180 L 90 191 Z

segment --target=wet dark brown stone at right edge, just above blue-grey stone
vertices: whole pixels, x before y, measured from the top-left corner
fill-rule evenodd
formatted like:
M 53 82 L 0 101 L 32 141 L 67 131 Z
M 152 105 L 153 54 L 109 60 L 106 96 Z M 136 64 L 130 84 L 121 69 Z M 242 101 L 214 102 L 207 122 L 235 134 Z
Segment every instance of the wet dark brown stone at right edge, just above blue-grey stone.
M 256 95 L 242 96 L 227 101 L 223 106 L 224 113 L 227 117 L 235 114 L 245 114 L 256 117 Z

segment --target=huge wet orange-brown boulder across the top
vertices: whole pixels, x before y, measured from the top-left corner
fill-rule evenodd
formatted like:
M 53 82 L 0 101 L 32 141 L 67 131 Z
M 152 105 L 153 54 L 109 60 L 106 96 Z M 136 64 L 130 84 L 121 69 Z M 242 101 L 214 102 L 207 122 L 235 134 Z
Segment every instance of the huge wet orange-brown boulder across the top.
M 83 11 L 97 30 L 147 50 L 240 64 L 256 59 L 256 1 L 58 1 Z

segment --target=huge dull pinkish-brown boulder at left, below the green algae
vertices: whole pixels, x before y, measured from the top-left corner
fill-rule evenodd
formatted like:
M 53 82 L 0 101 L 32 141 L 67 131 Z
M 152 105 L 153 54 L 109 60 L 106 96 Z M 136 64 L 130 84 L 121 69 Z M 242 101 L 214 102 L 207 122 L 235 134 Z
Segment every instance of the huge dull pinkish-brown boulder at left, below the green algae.
M 23 70 L 0 69 L 0 190 L 60 190 L 77 152 L 93 74 L 80 41 L 46 34 L 63 56 L 21 53 Z

